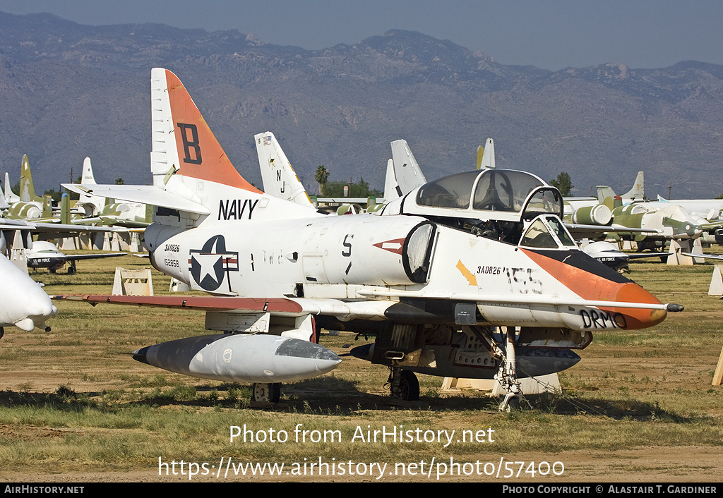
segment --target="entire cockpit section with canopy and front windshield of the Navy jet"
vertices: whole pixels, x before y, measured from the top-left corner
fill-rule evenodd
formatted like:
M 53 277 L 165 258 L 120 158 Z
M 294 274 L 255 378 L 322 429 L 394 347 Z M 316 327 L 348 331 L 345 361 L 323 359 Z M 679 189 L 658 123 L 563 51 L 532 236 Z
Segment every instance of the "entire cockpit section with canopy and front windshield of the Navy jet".
M 576 249 L 560 221 L 562 209 L 560 192 L 538 176 L 495 168 L 430 181 L 390 202 L 382 214 L 424 216 L 508 244 Z

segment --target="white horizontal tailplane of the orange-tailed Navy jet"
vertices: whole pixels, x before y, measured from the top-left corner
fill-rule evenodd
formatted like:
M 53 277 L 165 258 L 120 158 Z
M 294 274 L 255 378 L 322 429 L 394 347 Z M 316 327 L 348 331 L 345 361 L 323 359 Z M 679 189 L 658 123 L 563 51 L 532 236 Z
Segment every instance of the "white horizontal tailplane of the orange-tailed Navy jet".
M 195 212 L 200 215 L 208 215 L 210 211 L 190 199 L 163 190 L 153 185 L 79 185 L 63 184 L 63 186 L 77 194 L 97 195 L 99 197 L 111 197 L 127 202 L 140 202 L 158 207 L 167 207 L 187 212 Z

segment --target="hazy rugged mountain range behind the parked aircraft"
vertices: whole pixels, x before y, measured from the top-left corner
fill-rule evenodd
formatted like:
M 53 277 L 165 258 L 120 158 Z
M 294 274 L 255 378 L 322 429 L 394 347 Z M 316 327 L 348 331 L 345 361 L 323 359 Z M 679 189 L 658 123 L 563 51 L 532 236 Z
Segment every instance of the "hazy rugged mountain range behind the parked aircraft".
M 0 12 L 0 173 L 30 158 L 38 190 L 80 176 L 150 183 L 150 69 L 179 76 L 239 172 L 261 185 L 254 134 L 271 131 L 299 178 L 382 188 L 389 142 L 406 139 L 427 176 L 473 169 L 495 139 L 498 168 L 542 179 L 566 171 L 573 194 L 606 184 L 714 197 L 723 158 L 723 66 L 681 61 L 548 71 L 498 64 L 422 33 L 390 30 L 309 51 L 237 30 L 88 26 Z

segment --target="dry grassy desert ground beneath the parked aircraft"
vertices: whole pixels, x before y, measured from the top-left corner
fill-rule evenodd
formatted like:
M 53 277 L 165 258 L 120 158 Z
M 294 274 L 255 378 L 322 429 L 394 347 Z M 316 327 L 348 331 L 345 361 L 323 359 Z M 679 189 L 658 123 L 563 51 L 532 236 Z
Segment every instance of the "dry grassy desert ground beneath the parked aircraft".
M 30 274 L 51 295 L 110 293 L 116 265 L 150 266 L 126 256 L 80 262 L 74 275 Z M 129 355 L 202 335 L 202 314 L 58 302 L 51 332 L 7 327 L 0 340 L 0 480 L 719 482 L 714 266 L 631 268 L 629 278 L 685 311 L 648 330 L 596 332 L 582 361 L 560 373 L 561 394 L 531 395 L 532 408 L 510 413 L 487 392 L 442 390 L 430 376 L 419 376 L 419 403 L 393 403 L 388 369 L 347 355 L 372 338 L 344 332 L 320 340 L 347 355 L 338 369 L 284 385 L 279 405 L 255 407 L 248 385 Z M 168 292 L 155 270 L 153 283 Z M 247 430 L 245 442 L 231 440 L 234 427 Z M 402 441 L 381 440 L 403 431 Z M 251 475 L 249 463 L 284 468 Z

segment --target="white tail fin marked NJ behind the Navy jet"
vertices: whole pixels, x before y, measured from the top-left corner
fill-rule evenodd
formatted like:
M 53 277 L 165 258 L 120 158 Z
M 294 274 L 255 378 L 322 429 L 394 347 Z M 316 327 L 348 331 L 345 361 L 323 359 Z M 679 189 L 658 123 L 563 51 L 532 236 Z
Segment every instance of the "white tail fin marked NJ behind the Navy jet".
M 254 135 L 264 192 L 279 199 L 314 207 L 306 189 L 271 132 Z

